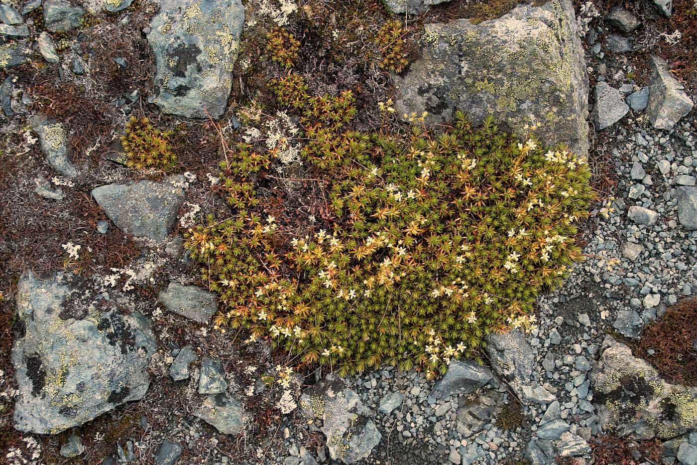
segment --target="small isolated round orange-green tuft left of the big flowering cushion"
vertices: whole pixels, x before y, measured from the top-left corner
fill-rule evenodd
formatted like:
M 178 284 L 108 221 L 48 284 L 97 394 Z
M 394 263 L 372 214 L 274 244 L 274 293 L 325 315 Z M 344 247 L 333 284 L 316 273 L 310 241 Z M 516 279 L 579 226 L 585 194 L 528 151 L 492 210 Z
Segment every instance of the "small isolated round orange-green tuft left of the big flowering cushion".
M 176 164 L 170 143 L 171 131 L 160 131 L 148 118 L 131 117 L 121 136 L 121 145 L 128 168 L 167 171 Z

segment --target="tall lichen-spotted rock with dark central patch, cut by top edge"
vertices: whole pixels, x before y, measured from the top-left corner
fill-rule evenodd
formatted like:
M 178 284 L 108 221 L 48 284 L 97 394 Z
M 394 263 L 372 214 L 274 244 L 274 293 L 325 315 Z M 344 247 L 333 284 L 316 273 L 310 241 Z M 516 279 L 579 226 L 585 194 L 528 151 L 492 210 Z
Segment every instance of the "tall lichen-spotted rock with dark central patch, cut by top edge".
M 240 0 L 160 0 L 148 33 L 163 112 L 220 117 L 232 86 L 245 10 Z

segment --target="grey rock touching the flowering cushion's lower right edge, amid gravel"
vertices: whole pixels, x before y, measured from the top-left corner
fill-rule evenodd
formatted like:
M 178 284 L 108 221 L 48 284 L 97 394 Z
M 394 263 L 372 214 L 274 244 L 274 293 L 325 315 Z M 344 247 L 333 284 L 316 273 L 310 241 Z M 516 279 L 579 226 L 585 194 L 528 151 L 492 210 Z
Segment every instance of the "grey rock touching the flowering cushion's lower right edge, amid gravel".
M 489 356 L 493 371 L 501 376 L 520 396 L 523 386 L 533 383 L 533 348 L 525 339 L 525 334 L 514 330 L 507 334 L 489 334 L 484 337 L 487 346 L 484 351 Z

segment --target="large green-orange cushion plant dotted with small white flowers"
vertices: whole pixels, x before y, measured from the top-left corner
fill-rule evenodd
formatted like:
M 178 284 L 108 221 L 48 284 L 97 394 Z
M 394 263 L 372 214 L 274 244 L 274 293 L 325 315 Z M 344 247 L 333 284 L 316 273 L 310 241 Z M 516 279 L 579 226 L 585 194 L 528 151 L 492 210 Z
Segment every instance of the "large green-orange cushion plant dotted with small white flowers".
M 342 375 L 387 363 L 429 378 L 459 357 L 482 362 L 486 334 L 534 326 L 535 297 L 581 259 L 574 224 L 593 197 L 583 158 L 462 113 L 437 133 L 351 131 L 351 96 L 288 82 L 302 91 L 277 87 L 278 101 L 312 134 L 302 154 L 335 221 L 289 235 L 256 199 L 270 160 L 240 145 L 221 164 L 224 184 L 243 189 L 229 199 L 237 214 L 186 235 L 201 281 L 220 293 L 217 325 Z

